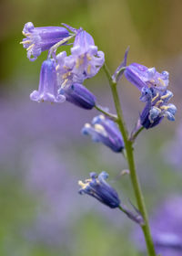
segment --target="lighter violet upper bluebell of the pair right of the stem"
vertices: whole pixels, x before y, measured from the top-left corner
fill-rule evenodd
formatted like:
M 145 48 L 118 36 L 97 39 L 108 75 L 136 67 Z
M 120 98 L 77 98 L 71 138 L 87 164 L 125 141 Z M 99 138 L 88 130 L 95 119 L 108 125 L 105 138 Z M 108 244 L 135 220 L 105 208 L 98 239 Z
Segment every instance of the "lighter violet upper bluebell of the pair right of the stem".
M 140 91 L 143 87 L 156 88 L 158 91 L 166 91 L 168 85 L 168 72 L 158 73 L 155 68 L 148 69 L 146 66 L 132 63 L 124 72 L 126 79 L 133 83 Z

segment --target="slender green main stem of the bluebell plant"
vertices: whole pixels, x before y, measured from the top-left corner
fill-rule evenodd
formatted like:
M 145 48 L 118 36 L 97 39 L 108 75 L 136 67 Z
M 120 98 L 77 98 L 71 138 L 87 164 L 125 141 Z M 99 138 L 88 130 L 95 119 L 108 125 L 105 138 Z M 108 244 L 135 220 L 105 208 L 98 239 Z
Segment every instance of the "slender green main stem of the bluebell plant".
M 134 192 L 135 192 L 135 196 L 136 196 L 137 207 L 138 207 L 139 211 L 141 212 L 142 217 L 145 222 L 144 225 L 142 226 L 142 229 L 143 229 L 144 236 L 145 236 L 146 243 L 147 243 L 147 252 L 148 252 L 149 256 L 156 256 L 154 243 L 153 243 L 153 240 L 151 237 L 149 223 L 148 223 L 148 219 L 147 219 L 147 208 L 145 205 L 145 201 L 144 201 L 144 197 L 143 197 L 143 194 L 141 191 L 139 180 L 138 180 L 138 177 L 136 174 L 136 165 L 135 165 L 134 154 L 133 154 L 133 143 L 128 138 L 126 125 L 124 123 L 124 118 L 123 118 L 123 112 L 121 109 L 118 93 L 116 90 L 116 82 L 114 80 L 112 80 L 112 77 L 111 77 L 108 69 L 106 68 L 106 65 L 104 66 L 104 70 L 105 70 L 106 76 L 109 80 L 109 84 L 110 84 L 111 91 L 113 94 L 113 99 L 114 99 L 115 106 L 116 106 L 117 123 L 119 126 L 119 130 L 122 133 L 124 143 L 125 143 L 126 156 L 127 156 L 126 159 L 127 159 L 128 167 L 130 170 L 130 178 L 131 178 L 132 186 L 134 188 Z

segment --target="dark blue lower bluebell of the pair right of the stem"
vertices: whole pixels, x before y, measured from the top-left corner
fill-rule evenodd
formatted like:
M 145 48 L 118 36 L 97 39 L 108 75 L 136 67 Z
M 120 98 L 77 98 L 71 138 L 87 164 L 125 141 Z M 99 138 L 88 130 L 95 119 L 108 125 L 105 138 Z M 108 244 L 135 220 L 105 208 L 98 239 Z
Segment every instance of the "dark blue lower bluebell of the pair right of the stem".
M 140 101 L 146 102 L 146 107 L 140 114 L 140 123 L 145 128 L 152 128 L 160 123 L 166 116 L 169 121 L 175 121 L 177 108 L 168 103 L 173 97 L 171 91 L 157 91 L 153 88 L 143 87 Z

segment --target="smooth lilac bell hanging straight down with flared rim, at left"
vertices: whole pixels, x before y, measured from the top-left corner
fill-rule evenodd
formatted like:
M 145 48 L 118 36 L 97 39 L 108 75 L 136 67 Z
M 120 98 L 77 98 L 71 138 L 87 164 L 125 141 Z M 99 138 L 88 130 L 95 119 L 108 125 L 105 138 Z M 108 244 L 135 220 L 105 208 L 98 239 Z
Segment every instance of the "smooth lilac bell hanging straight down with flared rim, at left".
M 64 95 L 58 95 L 57 90 L 56 63 L 54 59 L 47 59 L 41 67 L 38 91 L 33 91 L 30 94 L 30 99 L 38 102 L 66 101 L 66 97 Z

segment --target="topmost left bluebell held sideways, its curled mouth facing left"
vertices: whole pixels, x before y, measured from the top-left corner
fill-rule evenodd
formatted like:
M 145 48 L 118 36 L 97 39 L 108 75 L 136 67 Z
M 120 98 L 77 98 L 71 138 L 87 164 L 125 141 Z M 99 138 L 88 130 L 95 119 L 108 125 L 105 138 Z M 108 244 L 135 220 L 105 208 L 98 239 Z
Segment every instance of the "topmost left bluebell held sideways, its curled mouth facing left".
M 27 58 L 31 61 L 37 59 L 42 51 L 70 35 L 66 27 L 34 27 L 32 22 L 25 24 L 22 33 L 25 38 L 21 43 L 27 50 Z

